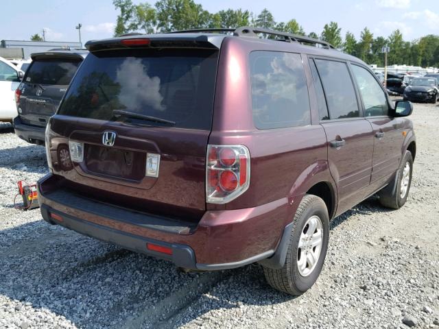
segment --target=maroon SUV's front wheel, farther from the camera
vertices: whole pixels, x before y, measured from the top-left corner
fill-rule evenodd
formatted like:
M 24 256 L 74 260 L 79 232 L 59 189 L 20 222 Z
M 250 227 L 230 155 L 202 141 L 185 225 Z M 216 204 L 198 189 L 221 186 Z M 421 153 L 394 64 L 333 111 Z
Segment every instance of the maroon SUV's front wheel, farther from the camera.
M 406 166 L 410 166 L 407 171 Z M 405 151 L 397 176 L 388 186 L 379 191 L 379 203 L 382 206 L 392 209 L 399 209 L 404 206 L 412 185 L 413 157 L 410 151 Z M 406 176 L 408 173 L 408 177 Z M 408 180 L 407 180 L 408 178 Z M 396 182 L 395 182 L 396 179 Z M 401 188 L 405 186 L 405 188 Z

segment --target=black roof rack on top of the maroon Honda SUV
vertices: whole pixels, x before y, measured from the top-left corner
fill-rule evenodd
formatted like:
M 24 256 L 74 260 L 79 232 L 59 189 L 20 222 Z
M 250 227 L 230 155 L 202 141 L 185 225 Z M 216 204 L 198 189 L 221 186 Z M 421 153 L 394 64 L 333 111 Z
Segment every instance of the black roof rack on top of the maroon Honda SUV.
M 258 38 L 258 34 L 265 34 L 270 36 L 280 36 L 281 39 L 274 39 L 274 40 L 283 40 L 286 42 L 300 42 L 305 43 L 307 45 L 315 45 L 318 47 L 327 48 L 327 49 L 336 49 L 333 45 L 331 45 L 329 42 L 318 40 L 314 38 L 309 38 L 307 36 L 300 36 L 298 34 L 291 34 L 287 32 L 281 32 L 281 31 L 275 31 L 273 29 L 264 29 L 262 27 L 250 27 L 250 26 L 241 26 L 237 27 L 236 29 L 222 29 L 222 28 L 207 28 L 207 29 L 183 29 L 181 31 L 174 31 L 174 32 L 167 32 L 167 33 L 215 33 L 215 32 L 222 32 L 222 33 L 228 33 L 232 34 L 234 36 L 252 36 L 255 38 Z

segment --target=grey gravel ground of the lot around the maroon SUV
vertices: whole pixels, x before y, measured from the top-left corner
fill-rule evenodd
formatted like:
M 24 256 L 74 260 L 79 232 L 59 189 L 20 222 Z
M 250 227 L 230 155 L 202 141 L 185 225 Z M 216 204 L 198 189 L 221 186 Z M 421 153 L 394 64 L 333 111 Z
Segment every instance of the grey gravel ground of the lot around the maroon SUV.
M 300 297 L 259 265 L 186 274 L 14 209 L 45 149 L 0 125 L 0 328 L 439 328 L 439 106 L 415 104 L 407 204 L 371 197 L 331 224 L 326 265 Z

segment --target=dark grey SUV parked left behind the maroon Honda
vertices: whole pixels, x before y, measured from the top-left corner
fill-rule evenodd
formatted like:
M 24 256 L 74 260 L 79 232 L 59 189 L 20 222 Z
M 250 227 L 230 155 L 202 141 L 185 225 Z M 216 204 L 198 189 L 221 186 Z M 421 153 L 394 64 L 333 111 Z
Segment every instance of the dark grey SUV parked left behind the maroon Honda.
M 19 116 L 13 125 L 17 136 L 28 143 L 44 145 L 47 121 L 56 112 L 87 53 L 57 50 L 31 55 L 32 64 L 15 92 Z

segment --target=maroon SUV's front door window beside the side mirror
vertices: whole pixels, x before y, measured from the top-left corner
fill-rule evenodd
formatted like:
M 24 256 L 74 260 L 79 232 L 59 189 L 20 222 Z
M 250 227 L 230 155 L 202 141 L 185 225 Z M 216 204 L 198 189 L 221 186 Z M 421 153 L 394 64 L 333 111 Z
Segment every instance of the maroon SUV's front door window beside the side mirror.
M 377 80 L 363 67 L 357 65 L 351 65 L 351 67 L 363 99 L 366 117 L 388 115 L 387 98 Z

